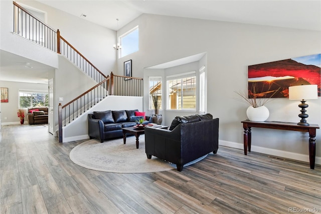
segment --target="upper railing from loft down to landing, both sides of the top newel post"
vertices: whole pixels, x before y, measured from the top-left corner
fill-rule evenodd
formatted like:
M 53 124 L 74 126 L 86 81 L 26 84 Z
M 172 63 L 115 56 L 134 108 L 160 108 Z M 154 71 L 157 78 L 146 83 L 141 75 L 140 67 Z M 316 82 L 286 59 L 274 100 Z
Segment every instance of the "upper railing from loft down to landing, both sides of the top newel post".
M 59 30 L 53 30 L 16 2 L 13 3 L 14 33 L 44 48 L 64 55 L 97 83 L 106 79 L 106 76 L 99 71 L 99 69 L 97 69 L 88 59 L 86 59 L 86 57 L 67 42 L 66 39 L 60 36 Z

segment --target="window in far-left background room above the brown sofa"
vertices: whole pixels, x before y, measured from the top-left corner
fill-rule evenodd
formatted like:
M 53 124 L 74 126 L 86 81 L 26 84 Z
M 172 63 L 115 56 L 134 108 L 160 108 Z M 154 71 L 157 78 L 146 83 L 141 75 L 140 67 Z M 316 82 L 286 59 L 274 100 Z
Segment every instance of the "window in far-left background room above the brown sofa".
M 48 106 L 48 92 L 19 91 L 19 108 Z

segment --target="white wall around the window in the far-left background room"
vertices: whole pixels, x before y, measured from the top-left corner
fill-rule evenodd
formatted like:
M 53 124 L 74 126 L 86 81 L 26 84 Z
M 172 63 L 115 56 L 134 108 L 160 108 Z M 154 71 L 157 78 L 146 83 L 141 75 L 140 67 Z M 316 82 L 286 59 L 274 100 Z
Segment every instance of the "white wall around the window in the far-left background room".
M 20 118 L 17 115 L 19 108 L 19 90 L 42 90 L 48 91 L 47 84 L 21 83 L 0 81 L 0 87 L 8 88 L 8 103 L 1 103 L 1 122 L 2 125 L 20 124 Z M 7 117 L 7 119 L 5 119 Z M 27 114 L 25 123 L 27 123 Z

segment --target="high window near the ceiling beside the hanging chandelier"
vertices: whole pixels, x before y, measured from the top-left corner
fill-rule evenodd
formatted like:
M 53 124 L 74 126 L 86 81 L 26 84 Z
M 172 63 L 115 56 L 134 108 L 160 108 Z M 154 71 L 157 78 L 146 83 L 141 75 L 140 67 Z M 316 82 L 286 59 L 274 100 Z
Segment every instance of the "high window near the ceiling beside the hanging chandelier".
M 120 57 L 138 51 L 138 26 L 119 37 L 120 40 Z

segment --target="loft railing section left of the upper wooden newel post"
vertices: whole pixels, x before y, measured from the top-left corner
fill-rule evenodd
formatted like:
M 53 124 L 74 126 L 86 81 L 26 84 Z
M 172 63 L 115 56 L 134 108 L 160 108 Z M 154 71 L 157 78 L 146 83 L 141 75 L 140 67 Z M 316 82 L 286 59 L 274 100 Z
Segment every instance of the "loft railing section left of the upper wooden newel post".
M 14 33 L 56 52 L 57 33 L 14 2 Z

